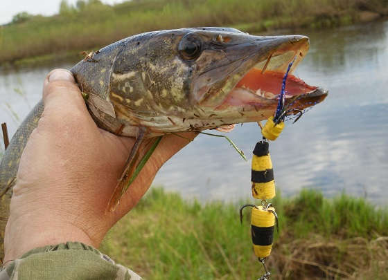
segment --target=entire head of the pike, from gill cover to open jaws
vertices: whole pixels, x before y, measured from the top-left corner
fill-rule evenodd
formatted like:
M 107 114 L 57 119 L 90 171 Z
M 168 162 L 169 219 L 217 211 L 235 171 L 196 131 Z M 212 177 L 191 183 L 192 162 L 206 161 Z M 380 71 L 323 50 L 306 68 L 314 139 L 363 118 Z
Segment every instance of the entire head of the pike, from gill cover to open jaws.
M 214 27 L 138 36 L 118 55 L 110 83 L 111 90 L 118 92 L 125 82 L 131 86 L 130 93 L 120 96 L 140 103 L 139 108 L 132 104 L 136 111 L 186 118 L 193 113 L 201 118 L 212 115 L 228 122 L 263 120 L 276 109 L 283 75 L 293 59 L 285 106 L 303 110 L 327 95 L 292 75 L 308 51 L 306 36 L 253 36 Z M 145 102 L 138 101 L 142 99 Z

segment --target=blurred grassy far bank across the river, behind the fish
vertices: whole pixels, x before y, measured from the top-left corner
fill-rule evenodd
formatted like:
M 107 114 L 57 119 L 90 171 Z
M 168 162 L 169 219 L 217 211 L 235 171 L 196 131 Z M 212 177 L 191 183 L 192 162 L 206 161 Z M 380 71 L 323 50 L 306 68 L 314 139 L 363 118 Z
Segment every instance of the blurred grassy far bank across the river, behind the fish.
M 247 32 L 352 24 L 361 12 L 388 15 L 388 0 L 97 0 L 53 17 L 19 14 L 0 27 L 0 64 L 26 57 L 96 50 L 148 30 L 234 26 Z

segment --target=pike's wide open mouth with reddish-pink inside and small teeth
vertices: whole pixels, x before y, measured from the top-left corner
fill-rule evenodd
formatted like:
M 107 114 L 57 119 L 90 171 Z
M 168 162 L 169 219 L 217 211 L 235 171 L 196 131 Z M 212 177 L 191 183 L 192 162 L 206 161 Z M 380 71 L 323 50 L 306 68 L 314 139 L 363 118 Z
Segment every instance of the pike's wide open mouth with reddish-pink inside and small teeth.
M 322 102 L 328 91 L 318 86 L 311 86 L 299 77 L 292 75 L 308 51 L 308 38 L 303 36 L 291 37 L 274 50 L 270 50 L 265 57 L 243 75 L 239 82 L 224 98 L 216 109 L 227 109 L 230 106 L 252 106 L 256 111 L 276 109 L 282 89 L 283 77 L 288 64 L 294 60 L 285 83 L 285 106 L 292 113 L 303 110 Z

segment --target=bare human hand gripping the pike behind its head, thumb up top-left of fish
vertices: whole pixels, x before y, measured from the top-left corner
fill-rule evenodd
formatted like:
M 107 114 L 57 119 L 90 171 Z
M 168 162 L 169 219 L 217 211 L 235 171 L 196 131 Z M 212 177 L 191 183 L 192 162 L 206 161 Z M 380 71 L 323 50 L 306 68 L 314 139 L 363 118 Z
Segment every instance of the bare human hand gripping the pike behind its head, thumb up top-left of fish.
M 98 129 L 69 71 L 44 81 L 44 112 L 21 156 L 5 234 L 4 261 L 33 248 L 79 241 L 98 247 L 138 203 L 161 165 L 189 140 L 164 136 L 114 212 L 105 208 L 133 138 Z M 193 139 L 196 133 L 184 133 Z

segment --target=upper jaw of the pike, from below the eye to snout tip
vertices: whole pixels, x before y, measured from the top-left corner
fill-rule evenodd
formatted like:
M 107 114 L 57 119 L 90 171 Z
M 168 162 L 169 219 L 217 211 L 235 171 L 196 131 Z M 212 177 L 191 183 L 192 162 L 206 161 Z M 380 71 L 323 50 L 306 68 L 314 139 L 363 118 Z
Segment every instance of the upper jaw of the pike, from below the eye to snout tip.
M 284 73 L 296 57 L 294 67 L 308 50 L 308 37 L 233 35 L 227 43 L 204 49 L 193 77 L 193 100 L 202 106 L 220 105 L 252 68 Z M 269 63 L 267 63 L 269 62 Z

